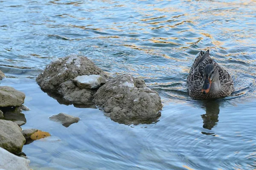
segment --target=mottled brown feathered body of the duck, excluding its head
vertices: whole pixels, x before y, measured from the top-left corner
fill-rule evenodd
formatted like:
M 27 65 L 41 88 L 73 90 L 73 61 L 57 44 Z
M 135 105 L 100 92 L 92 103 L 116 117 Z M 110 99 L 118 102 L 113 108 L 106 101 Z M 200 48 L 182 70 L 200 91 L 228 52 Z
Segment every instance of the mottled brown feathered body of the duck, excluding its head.
M 189 96 L 195 99 L 214 99 L 229 96 L 234 91 L 233 79 L 228 72 L 216 63 L 207 53 L 199 53 L 195 58 L 194 63 L 190 69 L 187 77 L 187 87 L 189 89 Z M 204 54 L 204 55 L 202 55 Z M 204 85 L 204 68 L 208 64 L 214 64 L 219 73 L 220 91 L 209 91 L 203 94 L 202 87 Z

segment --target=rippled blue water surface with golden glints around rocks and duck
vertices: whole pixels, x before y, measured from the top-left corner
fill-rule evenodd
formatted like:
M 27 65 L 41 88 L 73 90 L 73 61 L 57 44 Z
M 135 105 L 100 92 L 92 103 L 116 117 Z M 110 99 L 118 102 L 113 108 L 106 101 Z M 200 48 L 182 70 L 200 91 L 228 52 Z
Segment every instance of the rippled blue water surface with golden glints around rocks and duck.
M 255 0 L 1 0 L 0 15 L 0 83 L 26 94 L 23 129 L 52 135 L 23 147 L 34 170 L 256 169 Z M 195 101 L 186 77 L 207 49 L 235 92 Z M 159 121 L 122 125 L 47 96 L 35 77 L 69 54 L 145 79 L 163 101 Z M 81 120 L 49 120 L 60 112 Z

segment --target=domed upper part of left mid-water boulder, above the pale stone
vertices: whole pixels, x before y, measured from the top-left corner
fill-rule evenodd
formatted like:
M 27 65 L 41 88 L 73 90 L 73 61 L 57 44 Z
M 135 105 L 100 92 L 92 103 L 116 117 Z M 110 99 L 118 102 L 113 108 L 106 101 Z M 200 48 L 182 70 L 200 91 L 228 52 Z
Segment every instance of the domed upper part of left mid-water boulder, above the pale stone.
M 44 72 L 37 77 L 36 81 L 45 91 L 58 93 L 61 83 L 73 80 L 77 76 L 91 74 L 101 75 L 108 79 L 108 75 L 87 57 L 70 55 L 53 60 L 47 65 Z

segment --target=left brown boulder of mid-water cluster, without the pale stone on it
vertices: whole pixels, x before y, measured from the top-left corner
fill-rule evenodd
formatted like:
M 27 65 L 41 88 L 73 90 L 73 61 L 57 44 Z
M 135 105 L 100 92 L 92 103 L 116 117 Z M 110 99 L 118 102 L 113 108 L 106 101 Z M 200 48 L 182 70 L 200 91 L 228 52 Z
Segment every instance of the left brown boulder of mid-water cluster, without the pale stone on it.
M 103 79 L 109 78 L 87 57 L 71 55 L 53 60 L 36 81 L 49 96 L 56 94 L 76 105 L 87 105 L 88 101 L 92 100 L 95 91 L 79 88 L 74 84 L 73 79 L 92 74 L 100 75 Z

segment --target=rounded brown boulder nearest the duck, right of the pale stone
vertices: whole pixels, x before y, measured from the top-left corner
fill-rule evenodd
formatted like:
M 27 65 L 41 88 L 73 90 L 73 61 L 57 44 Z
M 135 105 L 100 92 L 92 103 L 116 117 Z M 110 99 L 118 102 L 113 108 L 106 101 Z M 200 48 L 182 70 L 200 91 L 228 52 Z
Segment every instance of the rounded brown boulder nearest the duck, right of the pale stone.
M 112 120 L 125 124 L 157 119 L 162 109 L 158 93 L 147 88 L 143 79 L 129 74 L 110 79 L 99 88 L 93 101 Z

